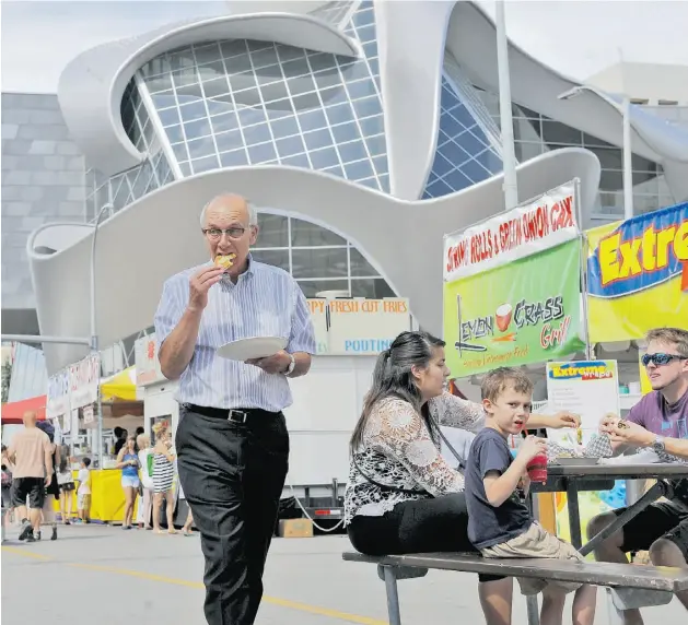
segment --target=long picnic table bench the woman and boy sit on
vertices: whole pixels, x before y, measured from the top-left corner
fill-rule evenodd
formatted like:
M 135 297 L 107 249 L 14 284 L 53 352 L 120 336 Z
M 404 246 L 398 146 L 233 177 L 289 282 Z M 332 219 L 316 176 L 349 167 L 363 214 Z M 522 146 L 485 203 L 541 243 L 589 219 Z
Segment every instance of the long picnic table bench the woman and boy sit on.
M 665 603 L 672 600 L 674 593 L 688 590 L 688 569 L 672 567 L 540 558 L 483 558 L 468 553 L 369 556 L 358 552 L 345 552 L 342 557 L 348 562 L 377 565 L 377 575 L 385 582 L 389 625 L 401 625 L 397 580 L 424 577 L 429 569 L 547 578 L 608 588 L 632 588 L 663 594 Z M 530 621 L 530 617 L 528 620 Z

